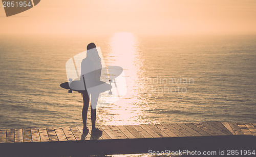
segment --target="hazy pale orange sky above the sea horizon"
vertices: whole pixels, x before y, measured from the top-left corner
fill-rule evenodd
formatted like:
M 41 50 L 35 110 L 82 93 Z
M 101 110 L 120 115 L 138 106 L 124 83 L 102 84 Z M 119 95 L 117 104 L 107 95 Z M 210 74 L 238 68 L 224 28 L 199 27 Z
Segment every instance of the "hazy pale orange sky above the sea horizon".
M 1 6 L 0 24 L 0 35 L 256 34 L 256 1 L 41 0 L 10 17 Z

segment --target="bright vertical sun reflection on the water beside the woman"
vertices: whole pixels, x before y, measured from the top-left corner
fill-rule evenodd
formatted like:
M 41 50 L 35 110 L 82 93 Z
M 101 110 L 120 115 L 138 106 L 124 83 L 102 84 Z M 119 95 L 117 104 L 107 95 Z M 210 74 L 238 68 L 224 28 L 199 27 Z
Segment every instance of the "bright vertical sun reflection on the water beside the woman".
M 138 74 L 142 61 L 140 59 L 139 42 L 133 33 L 115 33 L 109 42 L 110 50 L 105 60 L 109 65 L 123 68 L 127 84 L 127 94 L 114 104 L 99 108 L 99 115 L 105 125 L 140 124 L 143 118 L 143 107 L 139 106 Z

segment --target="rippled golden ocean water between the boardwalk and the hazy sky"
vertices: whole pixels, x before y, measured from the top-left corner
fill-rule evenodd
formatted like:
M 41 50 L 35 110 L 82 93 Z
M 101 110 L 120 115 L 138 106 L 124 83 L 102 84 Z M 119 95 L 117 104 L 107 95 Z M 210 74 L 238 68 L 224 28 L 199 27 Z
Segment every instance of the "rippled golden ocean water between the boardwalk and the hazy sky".
M 256 122 L 256 36 L 0 37 L 0 128 L 82 126 L 82 97 L 59 86 L 95 42 L 124 69 L 127 94 L 97 125 Z M 90 111 L 88 113 L 90 125 Z

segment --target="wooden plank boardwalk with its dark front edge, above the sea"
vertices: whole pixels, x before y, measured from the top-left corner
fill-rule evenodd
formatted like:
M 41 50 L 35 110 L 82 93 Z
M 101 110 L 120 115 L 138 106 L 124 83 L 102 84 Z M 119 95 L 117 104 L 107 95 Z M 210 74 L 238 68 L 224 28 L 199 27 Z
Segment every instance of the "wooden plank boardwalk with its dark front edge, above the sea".
M 84 156 L 154 151 L 256 149 L 256 123 L 203 122 L 0 129 L 0 156 Z M 256 150 L 255 150 L 256 151 Z

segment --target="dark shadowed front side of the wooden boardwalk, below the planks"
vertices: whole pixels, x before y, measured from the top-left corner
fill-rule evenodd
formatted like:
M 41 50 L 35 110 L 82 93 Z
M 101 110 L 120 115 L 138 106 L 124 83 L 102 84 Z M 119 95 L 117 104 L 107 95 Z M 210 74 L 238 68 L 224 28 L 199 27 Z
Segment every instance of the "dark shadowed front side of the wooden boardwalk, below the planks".
M 92 136 L 93 139 L 99 137 L 100 134 Z M 0 156 L 102 156 L 148 153 L 148 150 L 197 150 L 217 152 L 214 156 L 227 156 L 219 154 L 220 150 L 254 150 L 256 145 L 256 137 L 246 135 L 108 140 L 87 138 L 87 141 L 0 143 Z

